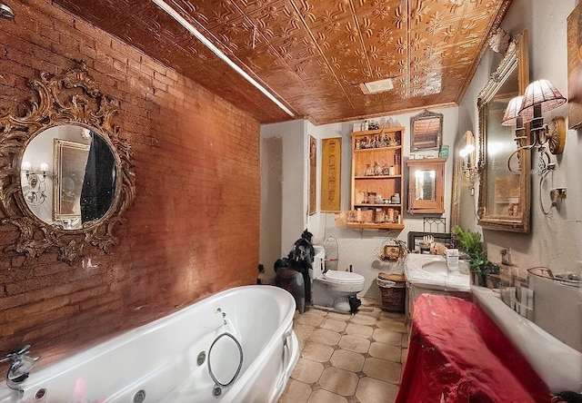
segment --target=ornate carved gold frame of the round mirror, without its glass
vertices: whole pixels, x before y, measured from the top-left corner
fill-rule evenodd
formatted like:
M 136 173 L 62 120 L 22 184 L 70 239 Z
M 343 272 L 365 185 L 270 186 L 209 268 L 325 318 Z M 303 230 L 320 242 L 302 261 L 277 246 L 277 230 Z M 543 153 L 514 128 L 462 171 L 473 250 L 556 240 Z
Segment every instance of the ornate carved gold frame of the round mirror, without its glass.
M 69 264 L 83 256 L 87 245 L 108 252 L 118 241 L 114 234 L 117 224 L 135 199 L 131 147 L 120 138 L 119 127 L 112 122 L 119 103 L 97 89 L 84 62 L 62 75 L 42 72 L 39 80 L 28 85 L 37 93 L 37 99 L 20 105 L 18 111 L 24 108 L 24 113 L 0 112 L 0 208 L 5 215 L 2 223 L 20 230 L 19 239 L 7 250 L 30 259 L 56 248 L 59 259 Z M 71 124 L 80 126 L 80 130 L 89 129 L 107 144 L 113 153 L 115 175 L 112 202 L 106 212 L 76 229 L 39 219 L 27 204 L 22 185 L 27 145 L 45 129 Z

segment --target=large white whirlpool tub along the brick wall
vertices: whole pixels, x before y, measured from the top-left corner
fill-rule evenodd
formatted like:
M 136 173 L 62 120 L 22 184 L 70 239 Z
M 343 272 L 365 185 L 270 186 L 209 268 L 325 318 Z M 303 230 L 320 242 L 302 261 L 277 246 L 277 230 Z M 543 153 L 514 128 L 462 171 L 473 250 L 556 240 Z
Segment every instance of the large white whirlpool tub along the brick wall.
M 286 290 L 225 290 L 42 368 L 0 403 L 276 402 L 296 366 Z M 32 348 L 34 353 L 34 346 Z

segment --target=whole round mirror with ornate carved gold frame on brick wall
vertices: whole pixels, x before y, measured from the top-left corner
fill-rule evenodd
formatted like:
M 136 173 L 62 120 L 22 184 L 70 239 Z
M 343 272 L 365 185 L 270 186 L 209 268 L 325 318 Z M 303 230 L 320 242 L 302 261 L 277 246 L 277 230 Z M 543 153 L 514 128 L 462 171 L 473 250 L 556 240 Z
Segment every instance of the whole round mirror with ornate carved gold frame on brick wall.
M 0 208 L 27 259 L 50 249 L 68 263 L 117 243 L 116 224 L 135 199 L 131 147 L 85 63 L 29 84 L 37 99 L 0 115 Z

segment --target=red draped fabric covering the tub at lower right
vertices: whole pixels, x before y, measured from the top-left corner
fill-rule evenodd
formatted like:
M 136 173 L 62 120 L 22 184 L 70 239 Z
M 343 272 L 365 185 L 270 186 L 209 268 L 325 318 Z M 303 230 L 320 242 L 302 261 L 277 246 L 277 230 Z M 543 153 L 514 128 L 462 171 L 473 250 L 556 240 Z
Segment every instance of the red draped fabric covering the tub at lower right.
M 542 403 L 551 395 L 526 359 L 472 302 L 422 294 L 396 403 Z

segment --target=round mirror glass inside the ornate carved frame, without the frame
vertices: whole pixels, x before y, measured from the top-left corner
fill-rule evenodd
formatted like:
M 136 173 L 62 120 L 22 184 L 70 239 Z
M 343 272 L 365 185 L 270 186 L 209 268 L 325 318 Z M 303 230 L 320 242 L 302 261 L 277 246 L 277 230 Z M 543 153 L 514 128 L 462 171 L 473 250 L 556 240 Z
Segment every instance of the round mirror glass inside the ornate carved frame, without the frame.
M 20 181 L 27 207 L 64 230 L 91 226 L 111 208 L 117 163 L 95 128 L 60 124 L 26 145 Z

